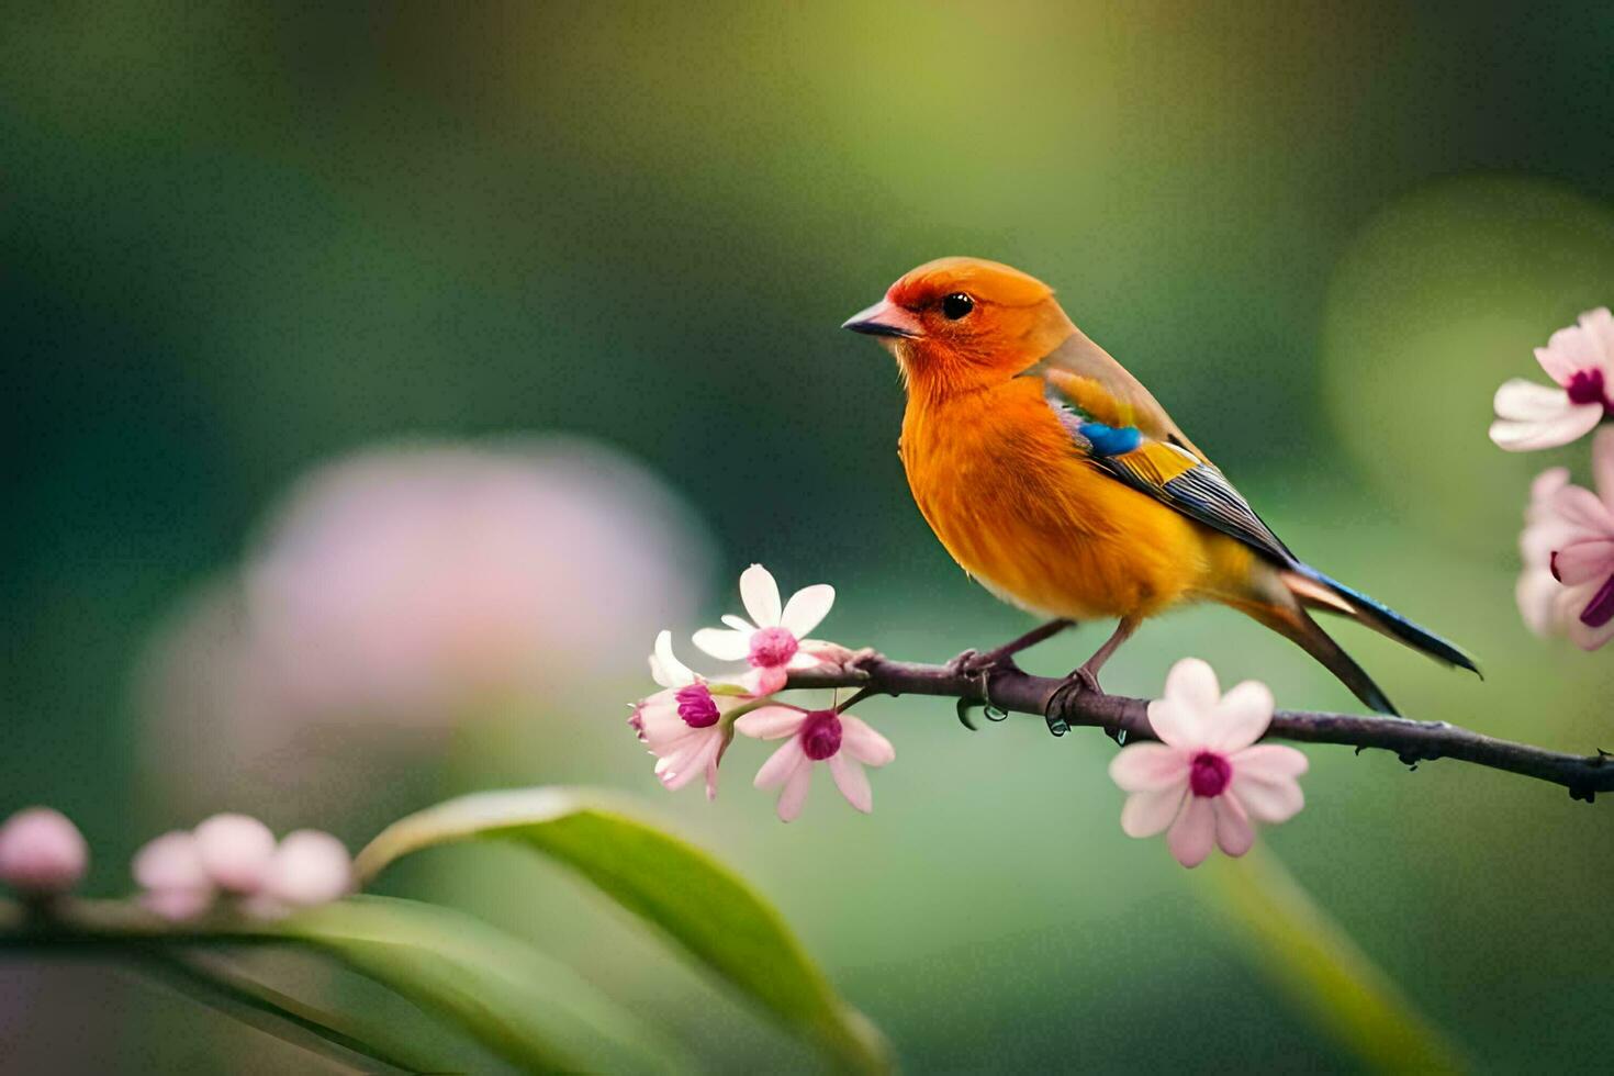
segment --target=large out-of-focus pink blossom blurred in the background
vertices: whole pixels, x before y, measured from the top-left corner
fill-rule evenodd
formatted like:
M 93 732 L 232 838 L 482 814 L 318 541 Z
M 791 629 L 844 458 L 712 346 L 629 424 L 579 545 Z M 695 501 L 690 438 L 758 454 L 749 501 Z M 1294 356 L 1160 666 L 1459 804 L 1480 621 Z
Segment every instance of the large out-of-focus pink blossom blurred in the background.
M 591 703 L 546 711 L 583 734 L 710 566 L 679 497 L 573 437 L 379 445 L 310 473 L 266 524 L 140 663 L 137 769 L 176 815 L 279 823 L 289 773 L 297 813 L 331 821 L 355 784 L 426 795 L 455 728 L 555 699 Z

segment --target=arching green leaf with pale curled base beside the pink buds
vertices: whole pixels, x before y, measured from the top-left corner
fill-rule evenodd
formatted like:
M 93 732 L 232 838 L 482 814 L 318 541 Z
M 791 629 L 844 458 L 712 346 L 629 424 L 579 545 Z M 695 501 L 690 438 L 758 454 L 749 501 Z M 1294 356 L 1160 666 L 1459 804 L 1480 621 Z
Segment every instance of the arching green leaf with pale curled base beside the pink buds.
M 478 792 L 387 826 L 358 853 L 360 878 L 420 849 L 513 840 L 565 863 L 618 905 L 663 931 L 691 957 L 841 1066 L 888 1071 L 880 1032 L 833 991 L 780 913 L 700 849 L 646 823 L 607 794 L 584 789 Z

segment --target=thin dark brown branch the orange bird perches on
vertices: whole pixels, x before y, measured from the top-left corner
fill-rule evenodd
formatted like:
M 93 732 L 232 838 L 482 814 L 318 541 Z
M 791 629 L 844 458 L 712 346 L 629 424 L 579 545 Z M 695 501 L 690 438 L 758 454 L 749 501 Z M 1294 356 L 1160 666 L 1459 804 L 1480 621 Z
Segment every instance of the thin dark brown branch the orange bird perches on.
M 986 674 L 965 674 L 944 665 L 893 661 L 863 652 L 844 666 L 792 673 L 788 687 L 862 687 L 883 695 L 938 695 L 955 699 L 960 716 L 970 705 L 1036 715 L 1047 721 L 1056 736 L 1070 728 L 1091 726 L 1115 737 L 1123 734 L 1128 740 L 1156 739 L 1149 728 L 1149 700 L 1081 690 L 1068 681 L 1031 676 L 1012 663 Z M 1598 792 L 1614 790 L 1614 755 L 1603 750 L 1593 755 L 1566 755 L 1445 721 L 1278 710 L 1267 737 L 1346 744 L 1357 750 L 1377 747 L 1394 752 L 1409 766 L 1435 758 L 1457 758 L 1561 784 L 1572 799 L 1588 803 Z

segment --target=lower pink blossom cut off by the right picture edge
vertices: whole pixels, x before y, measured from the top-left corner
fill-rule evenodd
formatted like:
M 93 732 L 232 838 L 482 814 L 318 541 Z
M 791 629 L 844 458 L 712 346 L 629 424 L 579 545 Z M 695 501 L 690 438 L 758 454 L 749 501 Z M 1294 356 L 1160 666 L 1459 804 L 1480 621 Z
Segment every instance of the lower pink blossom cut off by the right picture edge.
M 1554 468 L 1535 479 L 1519 539 L 1519 611 L 1541 636 L 1567 634 L 1583 650 L 1614 637 L 1614 429 L 1591 442 L 1590 489 Z

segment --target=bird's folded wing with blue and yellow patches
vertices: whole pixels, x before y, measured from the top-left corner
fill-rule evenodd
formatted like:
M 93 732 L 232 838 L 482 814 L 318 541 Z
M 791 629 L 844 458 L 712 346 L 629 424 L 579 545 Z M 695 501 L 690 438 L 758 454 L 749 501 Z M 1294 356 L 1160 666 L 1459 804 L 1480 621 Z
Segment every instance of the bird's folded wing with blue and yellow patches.
M 1102 352 L 1099 352 L 1104 355 Z M 1280 565 L 1299 563 L 1220 469 L 1193 447 L 1136 377 L 1110 392 L 1091 373 L 1039 363 L 1044 395 L 1070 440 L 1096 468 L 1191 519 L 1238 539 Z M 1141 394 L 1141 395 L 1139 395 Z

